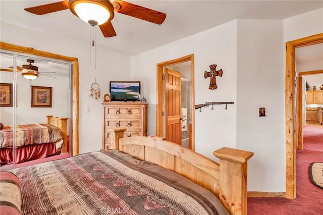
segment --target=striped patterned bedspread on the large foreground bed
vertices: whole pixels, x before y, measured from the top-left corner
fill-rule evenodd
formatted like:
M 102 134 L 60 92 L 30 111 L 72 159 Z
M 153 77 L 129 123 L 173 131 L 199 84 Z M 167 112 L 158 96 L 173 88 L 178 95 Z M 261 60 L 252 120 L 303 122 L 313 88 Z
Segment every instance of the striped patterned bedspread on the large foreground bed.
M 22 214 L 228 214 L 209 191 L 117 150 L 11 170 Z

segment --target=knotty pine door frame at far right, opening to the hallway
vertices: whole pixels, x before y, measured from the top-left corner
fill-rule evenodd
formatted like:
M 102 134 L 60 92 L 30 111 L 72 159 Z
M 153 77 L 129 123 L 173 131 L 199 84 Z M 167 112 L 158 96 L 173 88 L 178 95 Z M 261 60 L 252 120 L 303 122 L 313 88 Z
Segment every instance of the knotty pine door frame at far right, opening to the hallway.
M 286 198 L 296 198 L 296 145 L 299 135 L 299 106 L 294 110 L 295 92 L 295 48 L 323 42 L 323 33 L 286 42 L 285 72 L 285 132 L 286 132 Z M 295 113 L 296 112 L 296 113 Z M 295 116 L 295 117 L 294 117 Z M 298 126 L 295 126 L 298 123 Z

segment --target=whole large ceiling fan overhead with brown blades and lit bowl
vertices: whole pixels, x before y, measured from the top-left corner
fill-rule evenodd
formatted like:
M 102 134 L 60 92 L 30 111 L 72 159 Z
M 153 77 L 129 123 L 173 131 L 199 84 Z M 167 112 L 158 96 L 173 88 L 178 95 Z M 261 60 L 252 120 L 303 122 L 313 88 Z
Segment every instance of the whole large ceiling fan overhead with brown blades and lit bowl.
M 25 8 L 25 11 L 43 15 L 66 9 L 70 9 L 75 16 L 92 26 L 99 25 L 104 37 L 117 35 L 111 23 L 114 11 L 159 25 L 166 19 L 165 13 L 122 0 L 66 0 Z

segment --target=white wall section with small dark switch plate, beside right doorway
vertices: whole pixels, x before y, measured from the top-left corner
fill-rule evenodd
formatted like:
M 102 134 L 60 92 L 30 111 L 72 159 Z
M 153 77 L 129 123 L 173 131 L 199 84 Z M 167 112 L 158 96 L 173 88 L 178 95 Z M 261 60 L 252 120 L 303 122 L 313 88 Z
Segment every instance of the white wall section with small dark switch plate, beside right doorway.
M 237 148 L 254 152 L 248 190 L 285 191 L 283 22 L 238 21 Z M 265 108 L 266 117 L 259 117 Z

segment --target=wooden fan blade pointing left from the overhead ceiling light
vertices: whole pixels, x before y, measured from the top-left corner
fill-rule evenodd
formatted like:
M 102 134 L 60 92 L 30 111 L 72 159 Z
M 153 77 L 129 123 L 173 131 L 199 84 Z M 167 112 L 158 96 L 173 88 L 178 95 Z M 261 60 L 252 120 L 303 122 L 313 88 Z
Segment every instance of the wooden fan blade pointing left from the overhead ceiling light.
M 69 8 L 70 8 L 69 1 L 67 0 L 62 2 L 55 2 L 55 3 L 46 4 L 46 5 L 39 5 L 35 7 L 25 8 L 24 10 L 32 14 L 43 15 L 43 14 L 49 14 L 52 12 L 63 11 Z

